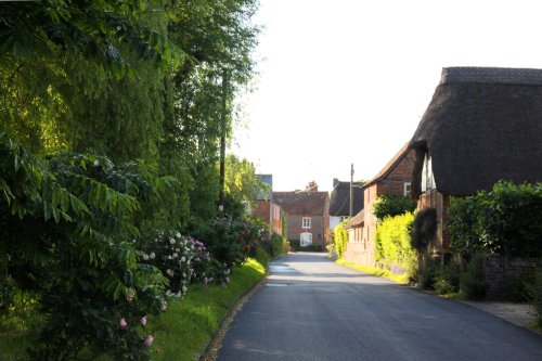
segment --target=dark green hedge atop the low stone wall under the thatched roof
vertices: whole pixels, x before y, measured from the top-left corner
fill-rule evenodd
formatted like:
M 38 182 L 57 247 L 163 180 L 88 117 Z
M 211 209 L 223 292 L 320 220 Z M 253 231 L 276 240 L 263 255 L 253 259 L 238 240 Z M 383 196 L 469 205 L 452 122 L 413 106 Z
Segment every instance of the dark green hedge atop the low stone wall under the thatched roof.
M 542 256 L 542 183 L 496 183 L 491 192 L 452 198 L 448 220 L 451 247 L 515 257 Z

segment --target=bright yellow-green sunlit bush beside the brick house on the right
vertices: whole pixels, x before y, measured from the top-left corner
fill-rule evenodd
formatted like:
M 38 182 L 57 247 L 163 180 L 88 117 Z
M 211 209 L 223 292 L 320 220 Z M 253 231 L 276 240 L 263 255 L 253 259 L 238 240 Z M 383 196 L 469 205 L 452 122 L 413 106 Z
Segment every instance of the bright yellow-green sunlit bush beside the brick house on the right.
M 386 217 L 378 223 L 375 238 L 375 256 L 380 267 L 396 274 L 408 273 L 411 279 L 415 276 L 417 263 L 417 254 L 410 237 L 413 218 L 411 212 Z

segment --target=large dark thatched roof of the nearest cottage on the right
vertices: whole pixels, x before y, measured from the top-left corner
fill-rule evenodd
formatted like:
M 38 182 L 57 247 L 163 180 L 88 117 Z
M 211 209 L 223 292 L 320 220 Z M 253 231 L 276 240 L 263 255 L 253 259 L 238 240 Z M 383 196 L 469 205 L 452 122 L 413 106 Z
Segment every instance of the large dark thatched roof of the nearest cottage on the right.
M 542 181 L 542 69 L 444 68 L 409 145 L 414 196 L 426 151 L 443 194 Z

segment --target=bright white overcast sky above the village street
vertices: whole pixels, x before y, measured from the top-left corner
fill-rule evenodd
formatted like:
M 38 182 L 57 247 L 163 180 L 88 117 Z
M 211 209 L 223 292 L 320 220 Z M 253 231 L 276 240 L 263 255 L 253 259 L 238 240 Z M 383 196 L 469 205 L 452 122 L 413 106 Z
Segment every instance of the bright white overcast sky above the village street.
M 537 3 L 539 2 L 539 4 Z M 231 152 L 273 191 L 373 178 L 410 140 L 443 67 L 542 68 L 542 2 L 260 0 L 256 90 Z

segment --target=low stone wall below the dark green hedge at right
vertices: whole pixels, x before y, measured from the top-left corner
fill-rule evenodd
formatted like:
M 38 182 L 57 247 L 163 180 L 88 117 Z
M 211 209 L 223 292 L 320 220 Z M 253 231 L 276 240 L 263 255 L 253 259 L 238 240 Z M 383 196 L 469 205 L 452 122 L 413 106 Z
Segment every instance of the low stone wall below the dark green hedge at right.
M 514 282 L 521 282 L 534 271 L 542 271 L 542 258 L 486 256 L 483 274 L 487 300 L 509 300 Z

